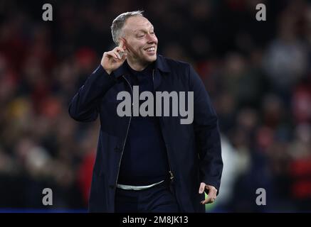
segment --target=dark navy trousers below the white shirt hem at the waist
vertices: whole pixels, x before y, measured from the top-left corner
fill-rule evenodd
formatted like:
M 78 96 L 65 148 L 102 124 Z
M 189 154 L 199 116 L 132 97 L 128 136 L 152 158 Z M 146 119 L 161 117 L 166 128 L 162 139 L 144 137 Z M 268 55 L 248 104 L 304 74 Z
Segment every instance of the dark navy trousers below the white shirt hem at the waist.
M 178 213 L 179 206 L 169 183 L 144 190 L 116 189 L 116 213 Z

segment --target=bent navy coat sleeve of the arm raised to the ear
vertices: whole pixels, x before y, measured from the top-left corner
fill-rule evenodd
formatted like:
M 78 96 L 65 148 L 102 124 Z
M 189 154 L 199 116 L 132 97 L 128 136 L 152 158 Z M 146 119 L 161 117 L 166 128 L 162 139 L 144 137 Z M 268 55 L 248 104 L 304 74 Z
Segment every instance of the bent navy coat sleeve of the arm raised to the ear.
M 76 121 L 95 121 L 102 96 L 115 83 L 113 72 L 107 74 L 101 65 L 97 67 L 70 101 L 69 115 Z

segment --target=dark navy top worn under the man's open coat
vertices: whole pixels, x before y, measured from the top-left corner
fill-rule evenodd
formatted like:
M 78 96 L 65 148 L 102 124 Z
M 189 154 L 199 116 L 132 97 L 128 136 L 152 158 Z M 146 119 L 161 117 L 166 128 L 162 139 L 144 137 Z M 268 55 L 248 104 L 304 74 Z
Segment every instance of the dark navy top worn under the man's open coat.
M 126 64 L 127 65 L 127 64 Z M 154 93 L 152 70 L 154 64 L 141 72 L 127 65 L 132 85 Z M 139 101 L 139 106 L 144 101 Z M 118 184 L 143 186 L 167 179 L 169 163 L 162 137 L 159 119 L 156 116 L 133 116 L 122 156 Z

